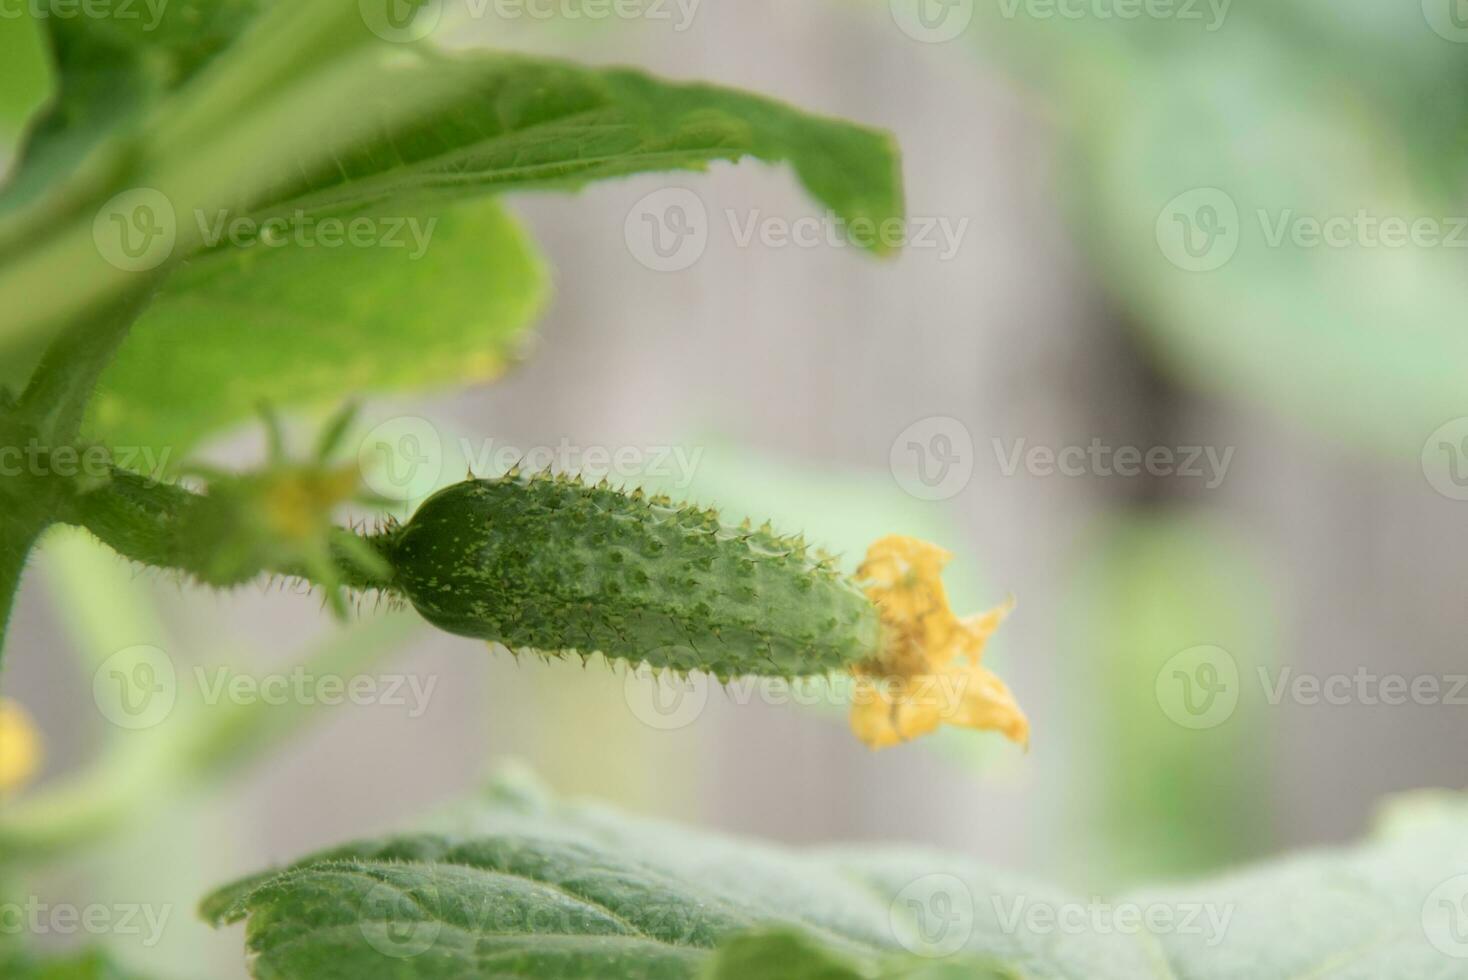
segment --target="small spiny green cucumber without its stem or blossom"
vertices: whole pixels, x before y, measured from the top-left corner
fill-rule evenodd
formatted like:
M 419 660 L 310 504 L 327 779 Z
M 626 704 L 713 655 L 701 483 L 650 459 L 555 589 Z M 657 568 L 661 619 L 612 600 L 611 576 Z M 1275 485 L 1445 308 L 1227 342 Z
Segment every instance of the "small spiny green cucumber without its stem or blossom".
M 807 676 L 871 657 L 879 635 L 871 600 L 797 538 L 574 478 L 452 486 L 383 553 L 424 619 L 511 650 Z

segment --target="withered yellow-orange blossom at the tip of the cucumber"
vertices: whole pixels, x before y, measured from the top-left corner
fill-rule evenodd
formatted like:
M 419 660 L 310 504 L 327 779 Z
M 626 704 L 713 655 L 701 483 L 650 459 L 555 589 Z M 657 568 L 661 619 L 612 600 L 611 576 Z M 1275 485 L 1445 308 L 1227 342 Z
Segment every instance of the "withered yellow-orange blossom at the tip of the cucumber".
M 960 619 L 948 607 L 935 544 L 890 535 L 866 552 L 857 579 L 876 603 L 882 647 L 853 668 L 851 731 L 872 748 L 926 735 L 940 725 L 1001 732 L 1029 744 L 1029 719 L 979 660 L 1013 601 Z

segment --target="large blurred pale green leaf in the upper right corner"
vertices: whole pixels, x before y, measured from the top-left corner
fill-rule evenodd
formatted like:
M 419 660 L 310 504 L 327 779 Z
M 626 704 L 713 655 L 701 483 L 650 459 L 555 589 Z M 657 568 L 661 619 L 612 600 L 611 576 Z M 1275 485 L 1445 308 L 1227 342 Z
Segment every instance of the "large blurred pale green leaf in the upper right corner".
M 1122 18 L 1014 0 L 978 4 L 967 35 L 1050 100 L 1067 135 L 1061 194 L 1097 277 L 1177 377 L 1333 443 L 1415 456 L 1465 414 L 1468 73 L 1462 45 L 1431 26 L 1455 1 Z M 1229 202 L 1210 251 L 1221 264 L 1195 271 L 1160 238 L 1188 222 L 1201 246 L 1210 188 Z M 1458 241 L 1271 241 L 1282 220 L 1358 214 Z

